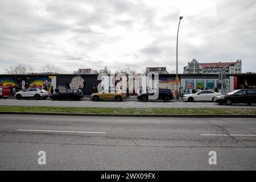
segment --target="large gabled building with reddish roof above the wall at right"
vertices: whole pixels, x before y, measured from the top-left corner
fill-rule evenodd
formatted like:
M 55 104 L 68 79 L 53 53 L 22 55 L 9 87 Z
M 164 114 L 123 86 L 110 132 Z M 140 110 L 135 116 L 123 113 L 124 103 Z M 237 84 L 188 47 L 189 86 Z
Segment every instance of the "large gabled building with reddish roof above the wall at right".
M 226 63 L 199 63 L 193 59 L 186 67 L 184 67 L 184 74 L 218 74 L 221 69 L 225 69 L 227 74 L 241 74 L 242 61 Z

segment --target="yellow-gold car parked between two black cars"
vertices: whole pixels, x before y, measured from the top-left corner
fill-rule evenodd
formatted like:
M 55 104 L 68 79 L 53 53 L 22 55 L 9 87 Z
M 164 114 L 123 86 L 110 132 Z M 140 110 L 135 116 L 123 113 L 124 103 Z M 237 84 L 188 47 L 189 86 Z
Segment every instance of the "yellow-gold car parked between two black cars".
M 90 99 L 93 101 L 100 101 L 100 100 L 115 100 L 120 102 L 126 99 L 126 93 L 121 89 L 108 89 L 103 90 L 99 93 L 93 93 L 90 95 Z

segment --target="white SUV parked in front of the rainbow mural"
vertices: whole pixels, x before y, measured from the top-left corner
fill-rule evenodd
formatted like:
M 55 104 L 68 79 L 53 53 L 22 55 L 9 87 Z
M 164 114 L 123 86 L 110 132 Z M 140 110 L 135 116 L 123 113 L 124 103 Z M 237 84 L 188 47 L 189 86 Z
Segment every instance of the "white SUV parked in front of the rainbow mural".
M 40 98 L 46 99 L 48 96 L 49 93 L 46 90 L 39 88 L 28 88 L 15 94 L 15 98 L 18 100 L 22 98 L 35 98 L 36 100 L 40 100 Z

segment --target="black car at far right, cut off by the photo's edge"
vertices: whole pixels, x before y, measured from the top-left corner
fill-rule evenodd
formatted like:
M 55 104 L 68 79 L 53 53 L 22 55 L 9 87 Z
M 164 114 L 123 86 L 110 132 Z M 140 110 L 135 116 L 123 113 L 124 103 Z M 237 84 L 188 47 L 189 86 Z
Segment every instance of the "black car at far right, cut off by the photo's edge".
M 256 89 L 234 90 L 225 95 L 215 97 L 218 104 L 256 104 Z

